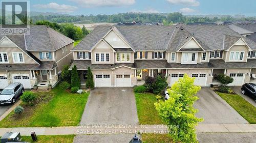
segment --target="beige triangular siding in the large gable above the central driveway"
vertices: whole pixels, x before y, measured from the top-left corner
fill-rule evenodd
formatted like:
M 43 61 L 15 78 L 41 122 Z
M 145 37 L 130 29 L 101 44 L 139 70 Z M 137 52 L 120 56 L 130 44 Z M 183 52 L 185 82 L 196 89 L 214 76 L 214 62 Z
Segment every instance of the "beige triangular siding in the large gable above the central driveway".
M 129 48 L 127 45 L 114 31 L 111 31 L 104 38 L 113 48 Z

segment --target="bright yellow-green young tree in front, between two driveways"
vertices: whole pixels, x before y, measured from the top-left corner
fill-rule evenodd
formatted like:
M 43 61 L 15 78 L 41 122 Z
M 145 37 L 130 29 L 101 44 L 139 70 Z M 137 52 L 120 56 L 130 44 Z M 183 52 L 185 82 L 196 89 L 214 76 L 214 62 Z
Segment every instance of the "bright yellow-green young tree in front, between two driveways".
M 174 142 L 198 142 L 195 126 L 203 119 L 195 116 L 198 110 L 193 105 L 199 99 L 195 95 L 200 89 L 194 85 L 194 78 L 185 74 L 167 90 L 170 96 L 168 100 L 155 103 Z

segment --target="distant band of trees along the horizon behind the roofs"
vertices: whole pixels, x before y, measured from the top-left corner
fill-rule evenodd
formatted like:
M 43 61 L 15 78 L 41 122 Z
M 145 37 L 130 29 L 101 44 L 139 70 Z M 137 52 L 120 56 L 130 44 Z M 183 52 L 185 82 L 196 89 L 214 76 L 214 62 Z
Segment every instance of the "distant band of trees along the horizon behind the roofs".
M 113 15 L 79 15 L 79 16 L 67 16 L 67 15 L 37 15 L 31 16 L 33 22 L 35 23 L 38 20 L 49 20 L 51 22 L 57 23 L 96 23 L 96 22 L 108 22 L 108 23 L 117 23 L 117 22 L 132 22 L 132 21 L 141 21 L 141 22 L 163 22 L 164 24 L 183 22 L 183 23 L 194 23 L 194 22 L 217 22 L 217 21 L 248 21 L 256 20 L 256 17 L 241 17 L 235 18 L 232 16 L 223 16 L 223 17 L 191 17 L 184 16 L 182 13 L 174 12 L 169 14 L 161 13 L 119 13 Z

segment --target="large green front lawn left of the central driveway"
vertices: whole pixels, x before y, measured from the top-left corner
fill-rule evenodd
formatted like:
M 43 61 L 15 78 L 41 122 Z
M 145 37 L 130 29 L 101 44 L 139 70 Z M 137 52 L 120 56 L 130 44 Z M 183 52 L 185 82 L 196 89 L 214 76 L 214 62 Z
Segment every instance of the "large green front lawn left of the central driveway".
M 15 115 L 12 111 L 0 122 L 0 127 L 58 127 L 76 126 L 86 105 L 89 93 L 72 94 L 57 86 L 50 92 L 35 93 L 36 103 Z

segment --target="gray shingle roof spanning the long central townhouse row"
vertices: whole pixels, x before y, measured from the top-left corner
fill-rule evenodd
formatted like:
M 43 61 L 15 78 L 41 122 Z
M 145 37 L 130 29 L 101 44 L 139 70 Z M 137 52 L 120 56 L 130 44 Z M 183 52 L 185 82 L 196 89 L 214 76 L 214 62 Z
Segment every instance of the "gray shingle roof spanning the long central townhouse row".
M 178 27 L 178 28 L 176 28 Z M 91 50 L 111 30 L 112 26 L 97 26 L 74 50 Z M 135 50 L 177 51 L 191 37 L 204 50 L 226 50 L 241 37 L 252 48 L 256 43 L 232 31 L 226 25 L 178 25 L 178 26 L 115 26 L 117 32 Z M 225 36 L 224 36 L 225 35 Z M 224 39 L 225 38 L 225 39 Z M 226 44 L 223 46 L 223 43 Z

